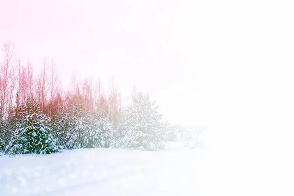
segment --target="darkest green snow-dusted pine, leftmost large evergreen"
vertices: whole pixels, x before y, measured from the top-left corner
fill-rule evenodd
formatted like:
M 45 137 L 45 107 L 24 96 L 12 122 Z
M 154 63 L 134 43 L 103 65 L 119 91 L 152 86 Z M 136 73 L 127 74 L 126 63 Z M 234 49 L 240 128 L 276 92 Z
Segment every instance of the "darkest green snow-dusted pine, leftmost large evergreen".
M 59 147 L 48 126 L 50 119 L 42 114 L 33 95 L 25 101 L 20 114 L 11 141 L 5 149 L 7 154 L 50 154 L 58 151 Z

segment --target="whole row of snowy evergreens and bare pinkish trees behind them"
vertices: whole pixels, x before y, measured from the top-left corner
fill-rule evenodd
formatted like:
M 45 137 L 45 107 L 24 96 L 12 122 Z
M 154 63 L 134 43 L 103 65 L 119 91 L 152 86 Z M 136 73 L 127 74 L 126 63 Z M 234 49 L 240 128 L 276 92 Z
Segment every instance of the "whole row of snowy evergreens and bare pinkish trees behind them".
M 40 73 L 34 77 L 30 61 L 24 64 L 16 60 L 13 43 L 5 43 L 3 48 L 4 59 L 0 64 L 0 150 L 35 152 L 24 151 L 20 147 L 27 146 L 29 140 L 35 145 L 38 140 L 48 142 L 47 137 L 54 143 L 50 143 L 54 150 L 60 147 L 155 150 L 162 148 L 162 141 L 169 137 L 166 132 L 169 125 L 162 122 L 158 106 L 150 101 L 148 95 L 138 94 L 135 87 L 133 102 L 128 108 L 122 105 L 114 78 L 109 82 L 106 93 L 99 79 L 95 83 L 92 78 L 78 82 L 77 75 L 73 74 L 72 89 L 65 91 L 53 59 L 44 59 Z M 29 136 L 30 139 L 27 138 Z M 43 144 L 43 148 L 45 146 Z M 46 152 L 42 145 L 37 148 L 39 152 Z

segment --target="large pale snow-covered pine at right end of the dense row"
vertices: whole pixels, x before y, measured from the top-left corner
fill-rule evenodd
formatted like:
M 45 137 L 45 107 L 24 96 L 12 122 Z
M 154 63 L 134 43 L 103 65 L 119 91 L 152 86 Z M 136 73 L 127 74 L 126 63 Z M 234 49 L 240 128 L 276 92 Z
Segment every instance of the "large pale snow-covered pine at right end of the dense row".
M 141 150 L 158 150 L 164 147 L 162 115 L 158 105 L 150 101 L 149 95 L 139 93 L 128 107 L 126 122 L 123 123 L 123 140 L 120 146 Z

